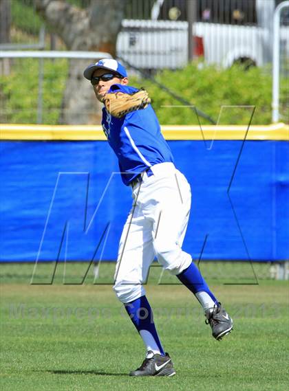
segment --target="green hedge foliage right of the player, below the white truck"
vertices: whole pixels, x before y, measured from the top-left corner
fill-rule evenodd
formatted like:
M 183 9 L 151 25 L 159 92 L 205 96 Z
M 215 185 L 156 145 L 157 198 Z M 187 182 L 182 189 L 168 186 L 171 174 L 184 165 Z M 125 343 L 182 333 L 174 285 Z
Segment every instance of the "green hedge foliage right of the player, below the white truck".
M 163 71 L 156 79 L 214 120 L 217 121 L 220 115 L 220 124 L 248 124 L 252 108 L 239 107 L 240 105 L 256 106 L 253 123 L 271 122 L 272 77 L 268 69 L 251 67 L 244 70 L 240 65 L 219 69 L 213 66 L 200 67 L 200 63 L 191 63 L 184 69 Z M 161 124 L 197 124 L 194 110 L 184 107 L 165 108 L 165 105 L 180 105 L 180 102 L 171 98 L 167 92 L 161 91 L 157 85 L 148 80 L 133 82 L 138 82 L 149 91 Z M 281 112 L 285 110 L 288 91 L 288 83 L 281 82 Z M 209 123 L 202 118 L 200 122 Z

